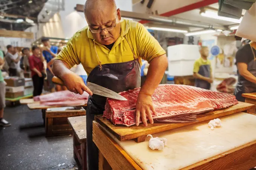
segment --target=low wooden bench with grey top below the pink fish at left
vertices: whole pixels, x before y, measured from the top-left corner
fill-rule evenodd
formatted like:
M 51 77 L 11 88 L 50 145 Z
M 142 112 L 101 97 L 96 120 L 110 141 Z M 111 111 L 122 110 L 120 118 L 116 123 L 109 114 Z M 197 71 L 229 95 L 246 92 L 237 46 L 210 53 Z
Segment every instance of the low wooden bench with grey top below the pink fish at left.
M 72 128 L 69 125 L 67 118 L 82 115 L 85 115 L 85 109 L 81 106 L 46 109 L 46 137 L 52 137 L 57 135 L 71 135 Z

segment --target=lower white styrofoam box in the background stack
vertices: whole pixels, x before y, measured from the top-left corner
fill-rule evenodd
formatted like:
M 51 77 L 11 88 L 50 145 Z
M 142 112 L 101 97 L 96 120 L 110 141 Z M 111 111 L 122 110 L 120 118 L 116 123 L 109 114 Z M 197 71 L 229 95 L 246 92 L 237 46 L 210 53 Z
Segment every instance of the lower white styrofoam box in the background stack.
M 169 61 L 168 74 L 170 76 L 191 76 L 194 62 L 193 60 Z

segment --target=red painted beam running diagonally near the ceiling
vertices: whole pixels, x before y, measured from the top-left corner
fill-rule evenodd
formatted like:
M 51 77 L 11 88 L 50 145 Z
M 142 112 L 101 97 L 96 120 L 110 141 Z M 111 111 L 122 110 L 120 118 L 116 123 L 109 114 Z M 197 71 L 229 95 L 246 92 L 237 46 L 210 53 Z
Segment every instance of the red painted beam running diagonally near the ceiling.
M 190 5 L 183 6 L 181 8 L 174 9 L 172 11 L 160 14 L 160 16 L 170 17 L 172 15 L 177 15 L 177 14 L 180 14 L 180 13 L 183 13 L 183 12 L 191 11 L 193 9 L 198 9 L 198 8 L 208 6 L 208 5 L 211 5 L 213 3 L 217 3 L 217 2 L 218 2 L 218 0 L 203 0 L 203 1 L 200 1 L 200 2 L 197 2 L 197 3 L 192 3 Z M 149 21 L 147 21 L 147 20 L 142 20 L 142 21 L 139 21 L 139 22 L 142 23 L 142 24 L 149 23 Z

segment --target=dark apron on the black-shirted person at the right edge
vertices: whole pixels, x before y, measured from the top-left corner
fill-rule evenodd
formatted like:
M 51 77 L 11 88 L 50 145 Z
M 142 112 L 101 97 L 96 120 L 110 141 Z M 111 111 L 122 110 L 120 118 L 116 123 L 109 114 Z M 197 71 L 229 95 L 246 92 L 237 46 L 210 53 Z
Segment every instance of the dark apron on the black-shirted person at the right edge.
M 250 45 L 251 46 L 251 45 Z M 251 51 L 253 53 L 254 59 L 250 61 L 247 64 L 247 70 L 253 74 L 253 76 L 256 77 L 256 58 L 253 51 L 253 48 L 251 47 Z M 240 79 L 238 80 L 238 83 L 235 88 L 234 95 L 236 96 L 236 99 L 240 102 L 244 102 L 244 97 L 242 97 L 243 93 L 255 93 L 256 92 L 256 84 L 253 82 L 250 82 L 246 79 Z

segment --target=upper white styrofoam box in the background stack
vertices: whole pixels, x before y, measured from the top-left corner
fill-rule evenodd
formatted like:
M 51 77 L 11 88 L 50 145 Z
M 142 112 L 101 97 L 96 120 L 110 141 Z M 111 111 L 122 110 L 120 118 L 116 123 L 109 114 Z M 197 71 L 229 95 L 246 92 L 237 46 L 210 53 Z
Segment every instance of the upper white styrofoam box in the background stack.
M 201 56 L 198 45 L 188 44 L 169 46 L 167 47 L 167 53 L 169 61 L 196 60 Z

